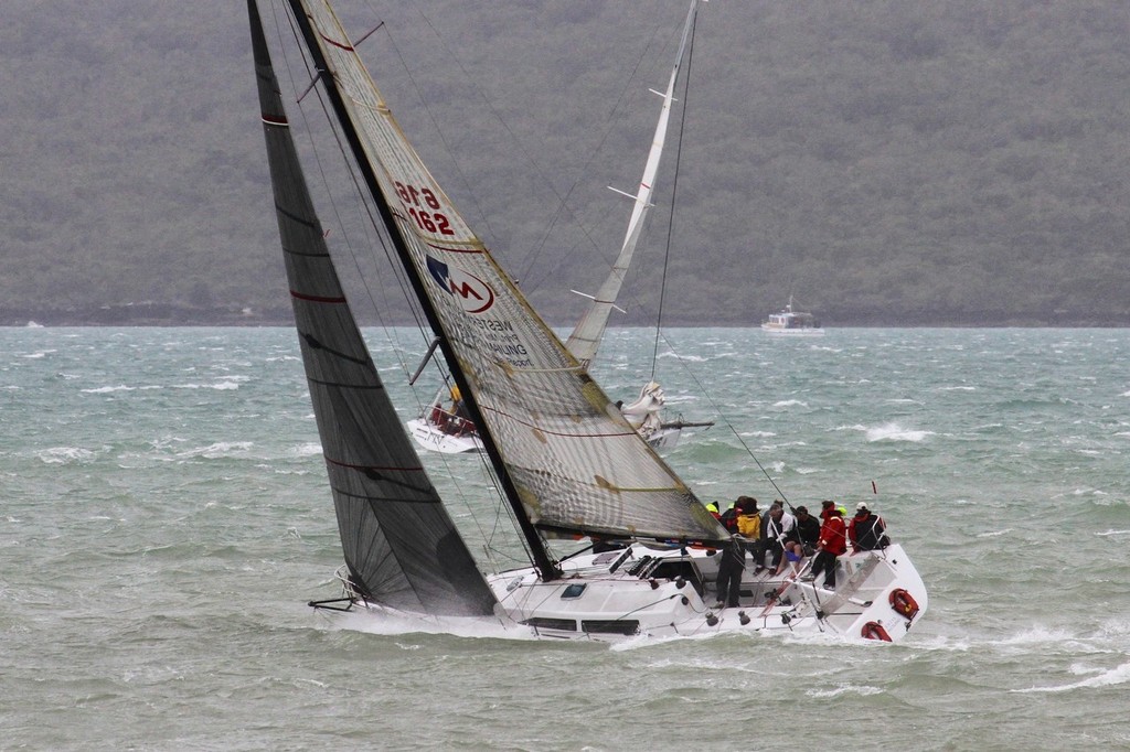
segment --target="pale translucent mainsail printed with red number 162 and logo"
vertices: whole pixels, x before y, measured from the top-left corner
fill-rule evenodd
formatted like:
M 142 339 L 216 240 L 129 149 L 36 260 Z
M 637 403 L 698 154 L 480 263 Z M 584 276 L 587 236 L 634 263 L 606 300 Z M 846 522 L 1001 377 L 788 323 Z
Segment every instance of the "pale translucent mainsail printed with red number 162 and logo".
M 299 27 L 340 95 L 342 125 L 520 522 L 599 536 L 725 537 L 452 207 L 329 5 L 290 5 L 305 16 Z

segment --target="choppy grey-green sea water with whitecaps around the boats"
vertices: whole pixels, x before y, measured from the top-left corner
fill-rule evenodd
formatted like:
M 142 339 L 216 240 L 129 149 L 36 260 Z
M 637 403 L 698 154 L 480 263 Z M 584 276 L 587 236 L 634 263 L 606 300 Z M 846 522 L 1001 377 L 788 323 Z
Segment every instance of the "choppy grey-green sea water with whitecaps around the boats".
M 423 346 L 367 332 L 405 418 Z M 867 501 L 929 612 L 896 645 L 589 642 L 330 620 L 290 329 L 0 330 L 0 749 L 1130 747 L 1130 331 L 617 330 L 594 375 L 714 420 L 705 500 Z M 424 379 L 425 382 L 427 378 Z M 523 563 L 473 456 L 424 458 Z

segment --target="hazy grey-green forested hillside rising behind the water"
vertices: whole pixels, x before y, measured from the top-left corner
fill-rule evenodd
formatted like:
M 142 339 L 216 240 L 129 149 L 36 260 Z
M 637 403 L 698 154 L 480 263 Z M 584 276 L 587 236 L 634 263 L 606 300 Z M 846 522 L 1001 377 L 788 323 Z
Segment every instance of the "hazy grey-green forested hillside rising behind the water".
M 405 130 L 574 321 L 685 1 L 372 5 L 346 16 L 385 21 L 362 52 Z M 286 321 L 244 8 L 6 0 L 0 323 Z M 667 324 L 756 324 L 790 292 L 833 326 L 1130 324 L 1128 40 L 1122 0 L 713 0 L 614 324 L 661 289 Z M 366 289 L 395 320 L 386 278 Z

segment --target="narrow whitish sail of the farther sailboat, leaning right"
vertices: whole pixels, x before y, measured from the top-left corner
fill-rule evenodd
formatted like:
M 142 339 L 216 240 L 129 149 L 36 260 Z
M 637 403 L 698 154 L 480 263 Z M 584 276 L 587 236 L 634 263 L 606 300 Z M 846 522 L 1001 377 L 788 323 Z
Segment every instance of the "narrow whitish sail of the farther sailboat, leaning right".
M 683 26 L 683 38 L 679 42 L 679 51 L 675 56 L 675 68 L 667 82 L 667 90 L 663 93 L 663 104 L 659 113 L 659 123 L 655 125 L 655 137 L 652 139 L 651 151 L 647 152 L 647 160 L 644 163 L 643 177 L 640 178 L 640 187 L 636 191 L 635 204 L 632 207 L 632 217 L 628 218 L 628 229 L 620 245 L 620 253 L 612 264 L 612 270 L 600 286 L 597 297 L 592 299 L 585 309 L 581 321 L 577 322 L 573 333 L 570 334 L 565 347 L 576 356 L 576 359 L 585 368 L 597 357 L 600 349 L 600 341 L 605 336 L 605 329 L 608 326 L 608 317 L 616 305 L 616 297 L 620 294 L 624 285 L 624 277 L 632 265 L 632 256 L 635 254 L 636 244 L 640 242 L 640 234 L 643 233 L 644 220 L 647 218 L 647 210 L 651 209 L 651 194 L 655 185 L 655 175 L 659 173 L 659 160 L 663 156 L 663 142 L 667 139 L 667 121 L 671 114 L 671 103 L 675 102 L 675 84 L 679 78 L 679 68 L 683 64 L 683 53 L 687 46 L 687 40 L 695 24 L 695 12 L 697 0 L 692 0 L 690 9 L 687 11 L 687 21 Z

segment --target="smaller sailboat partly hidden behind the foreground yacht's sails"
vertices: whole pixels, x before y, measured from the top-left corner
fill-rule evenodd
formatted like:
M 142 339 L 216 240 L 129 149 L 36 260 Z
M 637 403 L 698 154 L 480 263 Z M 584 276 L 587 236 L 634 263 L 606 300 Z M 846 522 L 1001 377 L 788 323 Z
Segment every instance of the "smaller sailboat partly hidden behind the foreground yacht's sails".
M 667 89 L 655 91 L 662 97 L 660 106 L 659 122 L 655 125 L 655 133 L 652 138 L 651 149 L 644 163 L 643 176 L 640 178 L 640 186 L 633 195 L 625 191 L 609 186 L 612 191 L 628 196 L 633 200 L 632 215 L 628 219 L 627 231 L 624 242 L 620 244 L 620 252 L 612 264 L 612 268 L 601 285 L 596 296 L 576 292 L 589 298 L 589 306 L 570 334 L 565 347 L 568 348 L 581 365 L 588 368 L 597 357 L 605 330 L 608 327 L 608 318 L 616 306 L 616 298 L 620 287 L 624 285 L 625 276 L 632 264 L 632 256 L 635 254 L 636 245 L 643 231 L 644 220 L 652 206 L 651 201 L 655 177 L 659 174 L 660 159 L 663 156 L 663 145 L 667 139 L 667 125 L 670 120 L 671 105 L 675 103 L 676 84 L 679 79 L 679 70 L 686 58 L 688 45 L 694 29 L 696 7 L 692 3 L 687 11 L 687 18 L 683 26 L 683 36 L 679 41 L 678 52 L 675 55 L 675 65 L 668 78 Z M 425 361 L 429 359 L 432 352 L 425 356 Z M 621 405 L 624 417 L 640 432 L 653 448 L 673 448 L 683 434 L 684 428 L 710 427 L 713 421 L 687 421 L 679 416 L 678 419 L 663 420 L 662 409 L 667 402 L 663 388 L 654 379 L 649 381 L 640 390 L 640 396 L 628 404 Z M 408 421 L 408 430 L 412 438 L 425 449 L 442 452 L 444 454 L 459 454 L 483 449 L 483 443 L 478 438 L 475 423 L 467 416 L 460 414 L 463 409 L 462 400 L 457 386 L 441 387 L 431 403 L 423 410 L 418 418 Z

